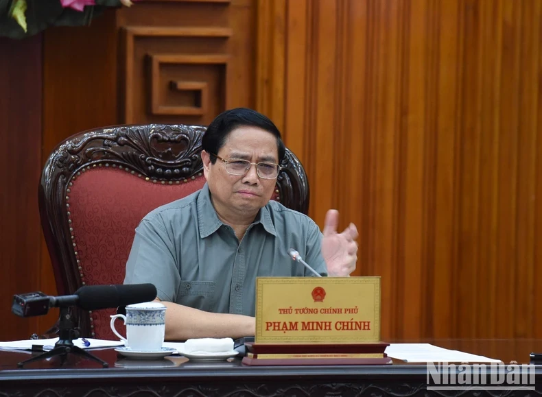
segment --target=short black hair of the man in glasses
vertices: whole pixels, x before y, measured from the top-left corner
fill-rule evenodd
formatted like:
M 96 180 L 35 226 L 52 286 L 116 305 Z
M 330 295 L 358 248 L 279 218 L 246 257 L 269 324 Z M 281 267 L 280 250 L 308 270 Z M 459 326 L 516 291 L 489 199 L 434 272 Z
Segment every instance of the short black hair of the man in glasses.
M 286 152 L 281 132 L 268 117 L 248 108 L 226 110 L 209 124 L 202 137 L 202 149 L 211 154 L 211 163 L 216 162 L 216 157 L 213 154 L 218 154 L 224 143 L 226 143 L 230 132 L 239 127 L 261 128 L 261 130 L 273 134 L 279 152 L 279 164 L 281 163 Z

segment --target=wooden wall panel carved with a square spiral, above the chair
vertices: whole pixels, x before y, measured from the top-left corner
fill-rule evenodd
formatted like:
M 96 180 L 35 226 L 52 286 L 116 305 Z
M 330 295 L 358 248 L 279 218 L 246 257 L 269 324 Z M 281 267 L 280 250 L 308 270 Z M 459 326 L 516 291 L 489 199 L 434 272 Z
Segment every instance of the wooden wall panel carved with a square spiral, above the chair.
M 121 122 L 208 124 L 227 108 L 252 106 L 255 9 L 237 0 L 119 10 Z

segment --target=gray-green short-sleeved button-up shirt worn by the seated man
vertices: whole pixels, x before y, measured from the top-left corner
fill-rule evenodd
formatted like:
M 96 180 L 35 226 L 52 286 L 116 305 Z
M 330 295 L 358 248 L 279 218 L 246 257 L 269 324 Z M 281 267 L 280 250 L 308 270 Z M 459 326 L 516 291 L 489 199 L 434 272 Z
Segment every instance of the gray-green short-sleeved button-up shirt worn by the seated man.
M 312 276 L 294 248 L 327 276 L 322 233 L 306 215 L 271 200 L 239 242 L 218 219 L 207 184 L 153 210 L 136 228 L 125 284 L 150 282 L 158 298 L 213 313 L 255 315 L 256 278 Z

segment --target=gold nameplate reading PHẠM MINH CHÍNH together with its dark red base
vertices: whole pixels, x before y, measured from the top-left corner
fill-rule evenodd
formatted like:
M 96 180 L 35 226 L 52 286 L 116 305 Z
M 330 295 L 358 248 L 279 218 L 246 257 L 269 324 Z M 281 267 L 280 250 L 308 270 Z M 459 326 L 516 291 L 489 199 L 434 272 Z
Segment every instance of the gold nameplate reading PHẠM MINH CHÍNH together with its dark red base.
M 379 277 L 259 277 L 243 365 L 386 365 Z

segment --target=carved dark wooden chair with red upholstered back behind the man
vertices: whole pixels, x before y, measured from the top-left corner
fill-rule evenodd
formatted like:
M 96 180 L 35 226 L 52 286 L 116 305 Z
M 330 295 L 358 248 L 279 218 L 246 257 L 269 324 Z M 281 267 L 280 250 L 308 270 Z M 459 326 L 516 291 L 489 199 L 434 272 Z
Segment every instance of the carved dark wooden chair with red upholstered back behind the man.
M 201 138 L 193 125 L 123 125 L 75 134 L 51 153 L 40 181 L 45 241 L 59 295 L 122 284 L 135 228 L 152 209 L 201 189 Z M 309 185 L 287 149 L 272 200 L 307 213 Z M 117 339 L 115 309 L 73 309 L 82 337 Z

